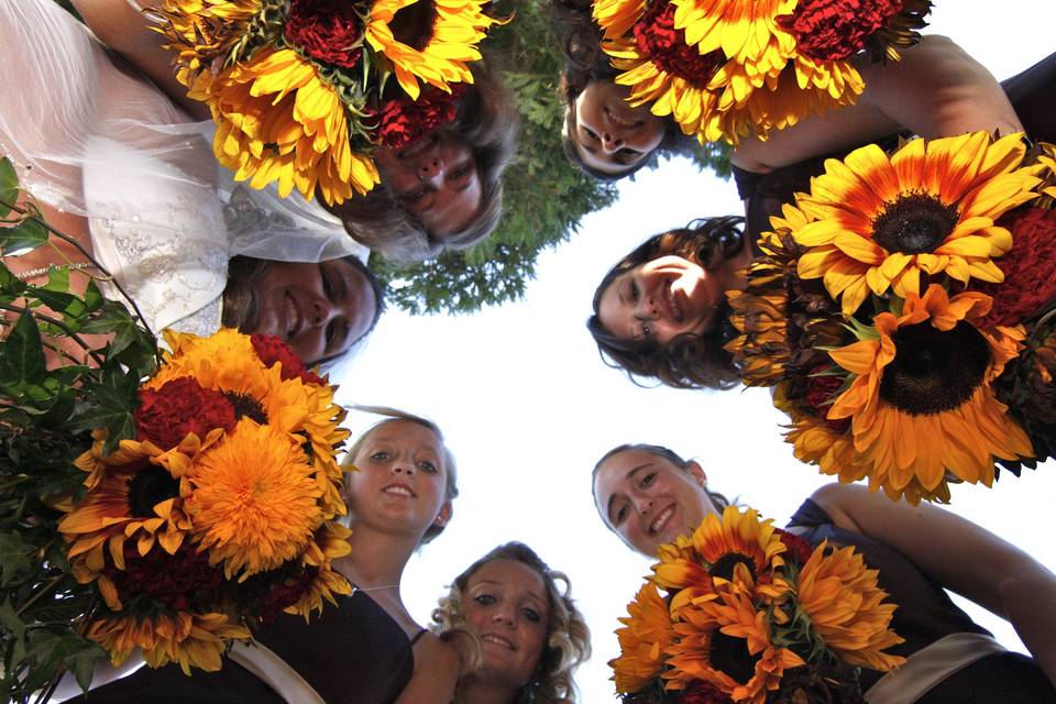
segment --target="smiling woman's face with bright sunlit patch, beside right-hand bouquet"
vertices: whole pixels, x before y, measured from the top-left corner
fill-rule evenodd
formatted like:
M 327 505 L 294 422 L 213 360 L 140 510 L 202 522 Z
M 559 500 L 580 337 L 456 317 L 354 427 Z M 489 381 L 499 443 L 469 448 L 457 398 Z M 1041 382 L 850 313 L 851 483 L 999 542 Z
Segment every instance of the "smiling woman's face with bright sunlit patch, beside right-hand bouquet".
M 597 317 L 617 338 L 666 344 L 714 324 L 725 293 L 698 264 L 669 254 L 620 274 L 602 293 Z

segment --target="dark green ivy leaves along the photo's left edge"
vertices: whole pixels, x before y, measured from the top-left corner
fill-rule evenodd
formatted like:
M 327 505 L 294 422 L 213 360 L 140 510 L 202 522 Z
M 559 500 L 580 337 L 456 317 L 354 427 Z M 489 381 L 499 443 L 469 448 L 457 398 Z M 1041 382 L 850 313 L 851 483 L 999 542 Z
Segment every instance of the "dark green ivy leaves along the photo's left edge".
M 9 206 L 19 196 L 13 173 L 0 160 L 0 194 L 7 196 L 0 200 Z M 0 238 L 29 221 L 44 233 L 40 244 L 50 234 L 62 237 L 30 200 L 7 215 Z M 91 448 L 92 430 L 106 430 L 109 448 L 134 436 L 136 388 L 156 369 L 157 345 L 94 282 L 84 295 L 72 293 L 67 270 L 53 270 L 45 285 L 32 286 L 0 264 L 0 693 L 21 702 L 63 670 L 87 686 L 106 657 L 79 632 L 95 607 L 95 588 L 69 572 L 58 507 L 82 491 L 85 473 L 73 460 Z M 89 344 L 81 333 L 105 342 Z M 90 365 L 48 363 L 70 342 Z

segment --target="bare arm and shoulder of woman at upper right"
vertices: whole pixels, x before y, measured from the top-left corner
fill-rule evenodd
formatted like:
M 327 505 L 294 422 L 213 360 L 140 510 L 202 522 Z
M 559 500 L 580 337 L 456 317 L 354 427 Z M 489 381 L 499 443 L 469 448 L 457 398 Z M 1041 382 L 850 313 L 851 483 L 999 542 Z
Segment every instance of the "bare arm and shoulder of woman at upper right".
M 858 102 L 749 139 L 732 156 L 737 166 L 769 172 L 909 130 L 935 139 L 986 130 L 1022 130 L 1001 85 L 987 68 L 945 36 L 930 34 L 904 50 L 902 61 L 856 61 L 866 81 Z

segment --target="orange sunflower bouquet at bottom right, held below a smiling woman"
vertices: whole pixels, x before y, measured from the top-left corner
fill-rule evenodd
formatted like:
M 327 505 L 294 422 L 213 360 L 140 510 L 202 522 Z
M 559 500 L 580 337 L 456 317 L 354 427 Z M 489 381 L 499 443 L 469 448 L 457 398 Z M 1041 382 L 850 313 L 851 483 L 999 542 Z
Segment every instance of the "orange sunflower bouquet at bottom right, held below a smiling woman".
M 854 548 L 812 549 L 747 509 L 660 548 L 609 662 L 628 704 L 862 702 L 857 668 L 904 659 L 895 609 Z

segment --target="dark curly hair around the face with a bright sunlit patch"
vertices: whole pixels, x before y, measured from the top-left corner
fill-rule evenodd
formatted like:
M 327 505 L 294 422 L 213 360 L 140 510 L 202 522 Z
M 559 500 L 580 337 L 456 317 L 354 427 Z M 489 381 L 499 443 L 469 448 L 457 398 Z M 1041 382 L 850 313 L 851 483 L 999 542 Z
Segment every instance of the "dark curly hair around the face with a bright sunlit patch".
M 616 263 L 594 292 L 594 315 L 586 329 L 597 343 L 602 360 L 622 369 L 635 383 L 656 378 L 674 388 L 733 388 L 739 376 L 733 355 L 723 349 L 734 330 L 729 307 L 724 302 L 715 324 L 704 334 L 684 333 L 664 344 L 654 340 L 620 338 L 602 324 L 598 307 L 613 282 L 639 264 L 675 254 L 713 270 L 744 246 L 744 222 L 739 216 L 694 220 L 684 228 L 649 238 Z

